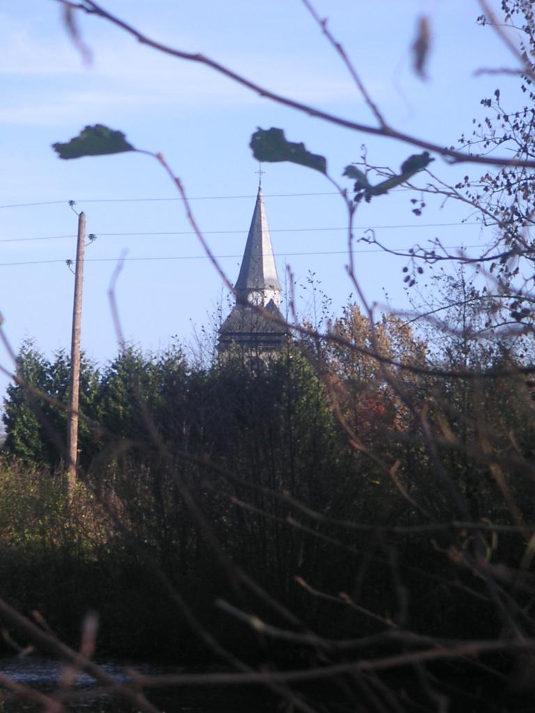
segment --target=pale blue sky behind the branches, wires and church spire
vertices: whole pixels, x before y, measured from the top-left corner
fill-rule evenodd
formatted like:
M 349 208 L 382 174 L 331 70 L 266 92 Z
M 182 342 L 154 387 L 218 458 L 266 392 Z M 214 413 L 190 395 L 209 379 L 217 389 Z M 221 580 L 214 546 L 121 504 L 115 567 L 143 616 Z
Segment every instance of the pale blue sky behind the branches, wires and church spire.
M 316 6 L 400 130 L 451 145 L 470 130 L 480 98 L 496 86 L 512 106 L 519 101 L 513 80 L 474 76 L 482 67 L 514 65 L 493 31 L 477 24 L 476 1 L 318 0 Z M 153 38 L 200 51 L 267 88 L 373 123 L 300 0 L 109 0 L 106 7 Z M 409 55 L 420 14 L 429 16 L 433 33 L 426 82 L 414 76 Z M 253 212 L 258 166 L 248 143 L 258 126 L 284 128 L 290 140 L 324 154 L 335 178 L 358 160 L 362 143 L 370 163 L 394 169 L 414 153 L 407 145 L 275 106 L 208 68 L 158 56 L 98 19 L 80 16 L 79 26 L 93 53 L 91 66 L 73 48 L 54 0 L 12 2 L 0 10 L 0 310 L 15 349 L 26 338 L 47 354 L 70 343 L 73 275 L 65 260 L 75 253 L 76 215 L 68 200 L 76 200 L 76 208 L 86 212 L 88 232 L 98 236 L 86 251 L 83 305 L 83 348 L 93 359 L 103 362 L 116 354 L 106 292 L 124 250 L 128 260 L 117 287 L 121 322 L 126 338 L 143 349 L 163 348 L 173 335 L 190 341 L 193 326 L 210 324 L 210 314 L 222 299 L 226 303 L 220 279 L 190 235 L 175 189 L 155 161 L 130 154 L 56 158 L 51 144 L 87 124 L 120 129 L 138 148 L 165 155 L 232 280 Z M 283 163 L 263 168 L 282 284 L 289 266 L 306 316 L 307 277 L 314 274 L 340 311 L 352 292 L 345 275 L 342 200 L 312 170 Z M 433 170 L 448 183 L 467 173 L 466 166 L 440 159 Z M 390 247 L 435 237 L 447 245 L 490 239 L 478 225 L 459 225 L 466 208 L 427 201 L 417 218 L 410 197 L 397 190 L 362 205 L 355 223 L 377 227 L 377 237 Z M 39 203 L 44 205 L 20 205 Z M 357 277 L 370 302 L 384 303 L 386 290 L 394 309 L 404 309 L 404 262 L 365 245 L 357 251 Z M 14 265 L 29 262 L 34 264 Z M 6 352 L 0 352 L 0 362 L 11 367 Z M 0 379 L 1 390 L 5 384 Z

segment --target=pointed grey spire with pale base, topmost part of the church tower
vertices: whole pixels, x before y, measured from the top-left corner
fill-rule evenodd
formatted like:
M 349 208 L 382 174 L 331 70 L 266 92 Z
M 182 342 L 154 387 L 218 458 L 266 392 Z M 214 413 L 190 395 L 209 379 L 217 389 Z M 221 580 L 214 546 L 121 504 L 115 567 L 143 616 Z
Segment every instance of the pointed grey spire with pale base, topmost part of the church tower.
M 275 306 L 280 307 L 282 289 L 277 277 L 261 185 L 258 186 L 255 211 L 235 291 L 239 302 L 253 302 L 265 307 L 273 300 Z

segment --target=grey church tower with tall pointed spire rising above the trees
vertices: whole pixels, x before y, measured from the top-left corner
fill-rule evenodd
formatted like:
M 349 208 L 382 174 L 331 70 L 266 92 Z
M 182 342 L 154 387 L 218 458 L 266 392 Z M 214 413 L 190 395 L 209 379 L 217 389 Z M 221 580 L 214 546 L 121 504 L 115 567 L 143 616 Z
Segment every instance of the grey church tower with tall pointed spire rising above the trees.
M 268 314 L 284 319 L 280 312 L 282 289 L 261 186 L 258 187 L 253 220 L 234 289 L 236 304 L 220 329 L 218 351 L 223 355 L 235 345 L 250 356 L 265 359 L 282 347 L 287 329 L 285 324 L 272 322 L 255 309 L 262 307 Z

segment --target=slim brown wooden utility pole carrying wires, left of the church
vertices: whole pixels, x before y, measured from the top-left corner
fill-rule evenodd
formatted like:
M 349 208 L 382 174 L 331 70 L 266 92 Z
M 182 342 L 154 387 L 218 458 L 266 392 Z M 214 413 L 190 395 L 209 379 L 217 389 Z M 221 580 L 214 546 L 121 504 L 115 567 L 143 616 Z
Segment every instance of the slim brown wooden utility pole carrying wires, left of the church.
M 71 339 L 71 385 L 68 404 L 68 491 L 76 486 L 78 465 L 78 404 L 80 401 L 80 337 L 82 324 L 83 252 L 86 249 L 86 214 L 78 215 L 78 242 L 74 271 L 73 332 Z

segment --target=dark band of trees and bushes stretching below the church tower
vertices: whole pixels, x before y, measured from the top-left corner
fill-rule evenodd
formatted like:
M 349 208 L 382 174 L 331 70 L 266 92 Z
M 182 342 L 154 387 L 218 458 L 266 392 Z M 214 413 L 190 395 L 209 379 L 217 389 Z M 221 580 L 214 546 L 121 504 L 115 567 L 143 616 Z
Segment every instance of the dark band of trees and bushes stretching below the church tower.
M 320 655 L 252 615 L 326 640 L 481 639 L 511 616 L 531 632 L 523 362 L 473 344 L 470 371 L 452 349 L 433 365 L 407 324 L 372 329 L 355 307 L 332 332 L 268 362 L 192 366 L 178 347 L 84 361 L 72 499 L 54 405 L 68 359 L 26 345 L 4 406 L 2 596 L 71 642 L 97 610 L 101 652 L 189 662 L 214 657 L 210 637 L 249 660 Z M 481 563 L 507 573 L 499 596 L 517 613 L 489 596 Z

